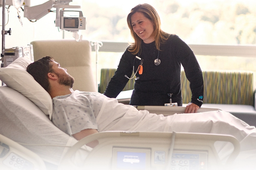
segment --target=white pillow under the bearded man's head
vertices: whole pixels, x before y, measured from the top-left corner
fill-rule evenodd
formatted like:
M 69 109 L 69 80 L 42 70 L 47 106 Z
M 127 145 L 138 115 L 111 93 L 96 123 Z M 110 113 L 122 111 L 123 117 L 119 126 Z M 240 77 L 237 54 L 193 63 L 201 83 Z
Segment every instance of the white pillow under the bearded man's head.
M 0 80 L 37 105 L 51 119 L 52 100 L 44 88 L 26 71 L 32 61 L 20 57 L 7 67 L 0 68 Z M 10 96 L 12 97 L 12 96 Z

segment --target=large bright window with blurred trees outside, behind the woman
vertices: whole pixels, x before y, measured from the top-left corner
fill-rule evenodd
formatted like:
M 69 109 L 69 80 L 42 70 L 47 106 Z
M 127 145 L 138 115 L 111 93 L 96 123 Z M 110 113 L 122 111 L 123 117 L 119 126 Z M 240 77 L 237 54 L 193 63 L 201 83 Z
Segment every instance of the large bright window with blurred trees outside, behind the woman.
M 31 6 L 46 0 L 31 1 Z M 73 0 L 70 5 L 80 5 L 86 17 L 86 30 L 79 31 L 90 41 L 132 42 L 127 26 L 127 14 L 143 0 Z M 162 29 L 178 35 L 187 44 L 255 45 L 256 1 L 251 0 L 147 0 L 158 11 Z M 55 10 L 52 8 L 51 10 Z M 66 9 L 69 10 L 69 9 Z M 6 10 L 7 13 L 7 10 Z M 20 10 L 20 15 L 23 12 Z M 7 17 L 6 17 L 7 18 Z M 23 46 L 35 40 L 74 39 L 73 34 L 55 27 L 56 14 L 50 12 L 37 22 L 22 17 L 23 26 L 11 6 L 5 36 L 5 47 Z M 6 19 L 7 21 L 7 19 Z M 93 48 L 93 47 L 92 47 Z M 96 54 L 92 52 L 92 58 Z M 98 54 L 98 80 L 101 68 L 117 68 L 122 53 Z M 256 56 L 255 56 L 256 57 Z M 256 71 L 253 57 L 197 56 L 202 69 L 238 69 Z M 93 63 L 96 61 L 93 60 Z M 232 64 L 226 64 L 232 63 Z M 96 65 L 96 64 L 95 64 Z M 95 70 L 96 72 L 96 70 Z M 96 74 L 96 73 L 95 73 Z

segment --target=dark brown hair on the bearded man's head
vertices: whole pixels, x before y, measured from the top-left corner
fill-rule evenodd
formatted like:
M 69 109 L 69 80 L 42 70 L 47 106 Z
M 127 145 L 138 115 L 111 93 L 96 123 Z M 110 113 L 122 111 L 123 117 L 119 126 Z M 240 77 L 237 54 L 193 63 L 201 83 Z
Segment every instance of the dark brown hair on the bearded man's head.
M 27 67 L 27 72 L 49 93 L 51 90 L 48 73 L 53 72 L 51 61 L 54 59 L 51 56 L 43 57 Z

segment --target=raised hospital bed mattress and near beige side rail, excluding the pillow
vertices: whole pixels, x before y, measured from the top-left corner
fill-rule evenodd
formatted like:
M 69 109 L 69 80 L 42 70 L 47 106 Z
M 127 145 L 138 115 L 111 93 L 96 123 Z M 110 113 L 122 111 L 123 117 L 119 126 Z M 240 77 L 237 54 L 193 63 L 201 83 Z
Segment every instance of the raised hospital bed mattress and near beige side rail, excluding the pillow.
M 1 158 L 0 156 L 0 167 L 11 169 L 12 166 L 6 163 L 7 160 L 13 160 L 11 154 L 15 154 L 16 158 L 19 156 L 21 160 L 26 160 L 30 164 L 33 163 L 35 169 L 42 170 L 64 169 L 64 167 L 83 169 L 84 166 L 100 169 L 102 165 L 104 165 L 104 169 L 123 169 L 122 166 L 127 166 L 125 164 L 127 161 L 138 161 L 130 160 L 130 158 L 137 158 L 138 155 L 141 155 L 138 159 L 141 159 L 139 160 L 141 166 L 146 166 L 145 169 L 164 169 L 168 165 L 172 133 L 101 132 L 90 135 L 77 143 L 73 137 L 56 128 L 49 117 L 24 95 L 7 86 L 0 87 L 0 94 L 0 103 L 3 106 L 0 112 L 0 134 L 9 140 L 12 139 L 10 143 L 3 140 L 5 138 L 2 135 L 0 136 L 1 143 L 10 148 L 5 157 Z M 84 148 L 83 145 L 95 139 L 99 141 L 98 146 L 93 150 L 89 147 Z M 214 148 L 216 141 L 228 141 L 234 145 L 234 151 L 224 163 L 220 161 Z M 3 145 L 1 146 L 3 148 Z M 21 149 L 16 146 L 20 146 Z M 73 147 L 69 149 L 70 146 Z M 76 158 L 79 158 L 79 162 L 83 159 L 85 161 L 82 164 L 72 163 L 73 153 L 81 146 L 84 149 L 80 151 L 82 153 L 78 153 Z M 12 147 L 16 147 L 16 150 Z M 177 158 L 172 159 L 171 164 L 181 167 L 186 163 L 180 165 L 179 162 L 190 162 L 190 166 L 192 166 L 191 162 L 194 161 L 196 163 L 193 163 L 194 167 L 200 166 L 204 167 L 203 169 L 209 169 L 232 162 L 239 153 L 239 147 L 238 141 L 231 136 L 176 133 L 173 154 Z M 129 154 L 124 164 L 120 164 L 120 154 Z M 181 155 L 186 158 L 179 158 Z M 200 156 L 200 159 L 197 156 Z M 81 160 L 81 158 L 83 159 Z M 99 160 L 100 164 L 97 163 Z M 136 165 L 135 162 L 134 165 Z

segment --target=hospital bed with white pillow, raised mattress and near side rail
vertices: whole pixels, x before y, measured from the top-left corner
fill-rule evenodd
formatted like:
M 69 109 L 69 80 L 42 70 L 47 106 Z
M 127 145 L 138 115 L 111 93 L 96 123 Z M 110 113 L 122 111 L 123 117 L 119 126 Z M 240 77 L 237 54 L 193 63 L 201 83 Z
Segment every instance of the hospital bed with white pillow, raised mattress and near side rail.
M 230 163 L 238 154 L 238 141 L 234 137 L 226 135 L 176 133 L 175 142 L 171 142 L 173 134 L 171 132 L 101 132 L 77 142 L 76 139 L 59 130 L 49 120 L 52 109 L 51 97 L 25 71 L 28 64 L 27 60 L 19 58 L 10 65 L 11 67 L 8 66 L 0 70 L 0 79 L 7 85 L 0 87 L 1 149 L 6 151 L 5 148 L 9 147 L 9 151 L 5 155 L 3 153 L 6 152 L 0 150 L 0 155 L 4 155 L 0 158 L 0 164 L 3 167 L 1 169 L 17 169 L 5 162 L 9 159 L 15 161 L 9 156 L 11 153 L 15 153 L 20 156 L 20 159 L 32 163 L 33 167 L 31 166 L 30 169 L 47 170 L 64 169 L 70 165 L 65 164 L 70 160 L 75 160 L 72 161 L 75 163 L 71 163 L 69 169 L 83 168 L 85 165 L 81 164 L 81 158 L 84 158 L 86 166 L 92 168 L 98 166 L 97 163 L 92 163 L 99 162 L 98 158 L 101 158 L 100 162 L 106 165 L 107 169 L 123 169 L 122 167 L 113 167 L 117 165 L 120 159 L 118 153 L 134 153 L 135 155 L 128 155 L 127 159 L 130 161 L 130 157 L 136 158 L 136 154 L 142 153 L 142 151 L 144 151 L 144 157 L 147 158 L 144 159 L 145 166 L 149 166 L 148 162 L 151 162 L 150 169 L 163 169 L 168 164 L 168 155 L 173 155 L 169 154 L 169 148 L 173 144 L 173 153 L 176 156 L 179 154 L 189 157 L 191 154 L 192 156 L 207 155 L 207 165 L 204 167 L 208 169 Z M 170 107 L 170 109 L 177 112 L 176 109 L 183 108 Z M 99 145 L 94 149 L 85 146 L 86 143 L 95 139 L 99 141 Z M 215 141 L 232 143 L 232 153 L 228 153 L 228 156 L 222 159 L 213 147 Z M 20 145 L 22 146 L 20 147 Z M 78 150 L 81 146 L 82 150 Z M 78 151 L 75 152 L 76 150 Z M 106 154 L 106 152 L 108 153 Z M 161 162 L 163 152 L 166 153 L 164 163 Z M 104 160 L 102 156 L 106 159 Z M 155 160 L 158 163 L 155 163 Z M 197 160 L 198 162 L 200 160 Z M 205 163 L 206 160 L 203 162 Z M 200 162 L 200 166 L 204 163 L 201 164 Z M 148 167 L 144 169 L 148 169 Z

